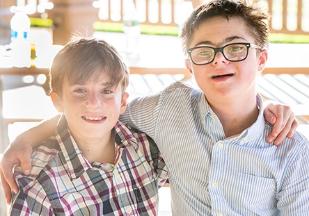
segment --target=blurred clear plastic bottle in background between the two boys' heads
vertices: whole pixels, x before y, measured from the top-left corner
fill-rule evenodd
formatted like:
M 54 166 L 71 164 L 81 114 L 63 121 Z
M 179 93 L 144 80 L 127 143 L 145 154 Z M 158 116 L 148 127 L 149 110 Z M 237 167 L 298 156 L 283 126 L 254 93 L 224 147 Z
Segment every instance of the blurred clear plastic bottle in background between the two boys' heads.
M 130 1 L 127 6 L 127 11 L 123 16 L 123 32 L 126 38 L 126 53 L 129 55 L 138 56 L 139 40 L 141 35 L 141 27 L 139 26 L 138 13 L 133 1 Z

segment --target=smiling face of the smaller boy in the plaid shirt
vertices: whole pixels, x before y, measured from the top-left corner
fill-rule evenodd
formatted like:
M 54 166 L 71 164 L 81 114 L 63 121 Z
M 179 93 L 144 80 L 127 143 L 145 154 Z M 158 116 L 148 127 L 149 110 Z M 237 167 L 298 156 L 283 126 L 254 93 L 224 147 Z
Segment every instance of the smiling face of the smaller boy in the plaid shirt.
M 125 112 L 128 94 L 122 96 L 120 85 L 109 87 L 109 83 L 109 76 L 101 73 L 83 84 L 64 81 L 61 97 L 51 92 L 54 106 L 65 115 L 77 142 L 108 140 L 119 115 Z

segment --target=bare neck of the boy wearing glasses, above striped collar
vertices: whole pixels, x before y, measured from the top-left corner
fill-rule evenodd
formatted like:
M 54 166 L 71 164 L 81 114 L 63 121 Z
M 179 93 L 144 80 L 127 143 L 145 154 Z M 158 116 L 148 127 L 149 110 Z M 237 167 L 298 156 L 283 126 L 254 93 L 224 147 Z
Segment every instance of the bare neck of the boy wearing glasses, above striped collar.
M 208 103 L 219 117 L 226 138 L 241 133 L 258 119 L 255 94 L 254 97 L 251 95 L 243 99 L 223 99 Z

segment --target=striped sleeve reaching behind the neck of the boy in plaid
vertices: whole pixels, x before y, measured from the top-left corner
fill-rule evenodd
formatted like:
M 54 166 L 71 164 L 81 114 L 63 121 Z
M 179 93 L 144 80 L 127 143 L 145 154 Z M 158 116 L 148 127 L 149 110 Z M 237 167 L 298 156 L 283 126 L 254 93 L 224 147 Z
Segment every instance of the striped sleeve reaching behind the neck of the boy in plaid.
M 154 130 L 159 113 L 161 93 L 149 97 L 133 99 L 127 106 L 125 113 L 120 115 L 120 121 L 147 133 L 154 138 Z

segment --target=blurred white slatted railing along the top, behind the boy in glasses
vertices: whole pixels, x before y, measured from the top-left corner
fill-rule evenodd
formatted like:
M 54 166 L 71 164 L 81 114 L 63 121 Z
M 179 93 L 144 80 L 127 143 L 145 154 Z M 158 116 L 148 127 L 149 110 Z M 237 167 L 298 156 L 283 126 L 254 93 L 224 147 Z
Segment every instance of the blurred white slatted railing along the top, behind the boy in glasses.
M 98 19 L 105 22 L 122 22 L 126 4 L 134 1 L 141 24 L 177 26 L 190 8 L 183 0 L 98 0 Z M 193 8 L 209 0 L 193 0 Z M 260 0 L 271 13 L 271 33 L 309 34 L 308 0 Z

